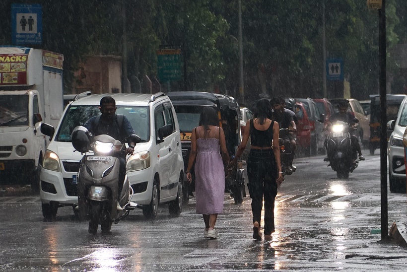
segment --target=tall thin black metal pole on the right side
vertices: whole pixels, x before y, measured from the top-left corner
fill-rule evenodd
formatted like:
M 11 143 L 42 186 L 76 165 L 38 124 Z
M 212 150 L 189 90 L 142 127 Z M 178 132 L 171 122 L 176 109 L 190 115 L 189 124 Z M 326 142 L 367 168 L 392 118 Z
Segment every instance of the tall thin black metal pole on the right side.
M 387 206 L 387 97 L 386 97 L 386 0 L 382 0 L 379 9 L 379 89 L 380 89 L 380 194 L 382 241 L 387 239 L 388 206 Z

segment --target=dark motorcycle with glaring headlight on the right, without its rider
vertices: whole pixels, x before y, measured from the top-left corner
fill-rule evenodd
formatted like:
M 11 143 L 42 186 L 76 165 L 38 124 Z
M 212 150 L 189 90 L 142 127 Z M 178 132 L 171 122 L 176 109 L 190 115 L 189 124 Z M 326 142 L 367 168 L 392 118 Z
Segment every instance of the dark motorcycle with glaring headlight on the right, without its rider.
M 357 150 L 351 144 L 351 132 L 357 129 L 358 120 L 352 124 L 342 121 L 334 122 L 328 128 L 325 148 L 327 149 L 328 160 L 331 168 L 337 172 L 338 178 L 349 177 L 349 172 L 353 172 L 358 166 Z

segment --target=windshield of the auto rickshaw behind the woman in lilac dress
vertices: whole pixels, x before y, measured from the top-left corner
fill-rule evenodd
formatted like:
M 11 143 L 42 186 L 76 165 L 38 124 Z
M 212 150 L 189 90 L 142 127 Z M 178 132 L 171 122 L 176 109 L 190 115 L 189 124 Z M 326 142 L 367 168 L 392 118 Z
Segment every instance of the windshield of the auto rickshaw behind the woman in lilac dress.
M 182 132 L 192 132 L 195 127 L 199 126 L 199 118 L 203 108 L 204 106 L 197 105 L 174 106 Z

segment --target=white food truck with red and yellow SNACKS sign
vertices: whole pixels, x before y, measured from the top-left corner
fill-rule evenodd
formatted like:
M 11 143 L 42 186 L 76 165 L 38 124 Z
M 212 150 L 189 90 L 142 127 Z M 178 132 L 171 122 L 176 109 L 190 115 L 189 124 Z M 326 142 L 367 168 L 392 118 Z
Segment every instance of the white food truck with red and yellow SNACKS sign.
M 41 124 L 56 127 L 64 110 L 62 54 L 0 47 L 0 185 L 31 184 L 49 138 Z

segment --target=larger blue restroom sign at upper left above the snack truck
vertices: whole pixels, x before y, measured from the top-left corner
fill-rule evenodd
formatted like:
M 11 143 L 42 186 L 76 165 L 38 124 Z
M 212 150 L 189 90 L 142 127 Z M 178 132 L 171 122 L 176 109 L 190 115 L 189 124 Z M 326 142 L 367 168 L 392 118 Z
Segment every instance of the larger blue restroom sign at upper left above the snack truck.
M 13 45 L 42 44 L 42 6 L 40 4 L 11 5 L 11 43 Z

